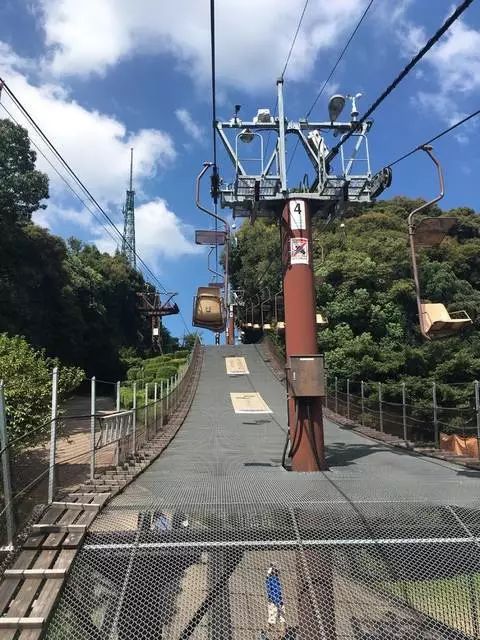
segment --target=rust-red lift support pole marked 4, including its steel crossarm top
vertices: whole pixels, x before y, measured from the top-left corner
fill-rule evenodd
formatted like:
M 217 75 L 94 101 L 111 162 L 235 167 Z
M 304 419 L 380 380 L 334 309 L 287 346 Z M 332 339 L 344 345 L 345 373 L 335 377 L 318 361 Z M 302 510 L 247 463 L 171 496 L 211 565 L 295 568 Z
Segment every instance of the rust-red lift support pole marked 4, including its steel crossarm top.
M 241 107 L 236 105 L 233 118 L 214 122 L 235 169 L 233 180 L 214 176 L 214 201 L 231 209 L 234 218 L 273 218 L 281 228 L 288 413 L 295 471 L 326 467 L 322 424 L 325 375 L 323 356 L 317 348 L 312 216 L 326 219 L 339 215 L 344 203 L 371 202 L 391 183 L 390 169 L 371 173 L 367 134 L 372 122 L 359 122 L 358 98 L 359 94 L 332 96 L 326 122 L 290 121 L 284 113 L 280 78 L 278 117 L 272 116 L 269 109 L 258 109 L 252 120 L 242 121 Z M 338 122 L 346 99 L 352 100 L 350 120 Z M 263 136 L 272 134 L 276 144 L 267 156 L 264 150 L 268 145 L 264 145 Z M 340 138 L 339 155 L 329 149 L 327 137 L 332 134 Z M 289 135 L 297 138 L 314 171 L 308 183 L 304 181 L 302 186 L 293 188 L 289 188 L 287 177 Z M 341 142 L 347 137 L 348 149 L 344 151 Z M 249 153 L 245 153 L 245 145 L 250 145 Z M 337 171 L 333 163 L 340 164 Z

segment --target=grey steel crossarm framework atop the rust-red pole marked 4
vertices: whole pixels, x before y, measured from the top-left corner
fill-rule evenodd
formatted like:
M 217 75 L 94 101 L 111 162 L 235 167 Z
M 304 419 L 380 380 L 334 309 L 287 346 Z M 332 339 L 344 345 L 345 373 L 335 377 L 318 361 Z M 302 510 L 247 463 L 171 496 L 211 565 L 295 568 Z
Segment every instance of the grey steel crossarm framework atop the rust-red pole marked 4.
M 283 107 L 283 81 L 277 82 L 278 117 L 273 117 L 268 109 L 259 109 L 252 121 L 242 121 L 235 116 L 227 122 L 216 122 L 216 130 L 235 168 L 234 180 L 226 183 L 222 179 L 213 184 L 213 195 L 220 198 L 222 207 L 231 208 L 234 217 L 272 216 L 280 212 L 286 198 L 302 198 L 311 201 L 312 210 L 327 211 L 328 203 L 371 202 L 373 198 L 390 186 L 391 171 L 382 170 L 372 175 L 367 134 L 371 121 L 359 123 L 355 99 L 352 97 L 350 122 L 309 122 L 287 120 Z M 342 96 L 336 96 L 343 98 Z M 344 101 L 344 98 L 343 98 Z M 235 138 L 232 139 L 232 132 Z M 351 134 L 353 132 L 353 134 Z M 263 133 L 276 134 L 273 152 L 266 157 Z M 349 153 L 340 146 L 341 173 L 333 172 L 332 161 L 337 148 L 329 149 L 326 134 L 340 136 L 340 142 L 351 134 Z M 294 135 L 309 159 L 314 178 L 309 185 L 290 188 L 287 184 L 286 136 Z M 258 157 L 242 158 L 242 148 L 246 144 L 257 143 Z M 353 144 L 352 144 L 353 142 Z M 268 146 L 268 145 L 267 145 Z M 250 170 L 252 161 L 256 171 Z M 247 167 L 248 164 L 248 167 Z

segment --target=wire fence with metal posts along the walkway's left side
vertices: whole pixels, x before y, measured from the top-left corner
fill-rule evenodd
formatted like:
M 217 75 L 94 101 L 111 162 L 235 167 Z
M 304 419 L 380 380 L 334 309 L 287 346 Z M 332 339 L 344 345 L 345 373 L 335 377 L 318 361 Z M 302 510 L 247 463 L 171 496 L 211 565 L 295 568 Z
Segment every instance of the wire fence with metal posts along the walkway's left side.
M 131 407 L 121 408 L 120 383 L 92 378 L 90 398 L 80 403 L 87 411 L 75 415 L 61 415 L 56 393 L 58 370 L 54 370 L 52 417 L 38 428 L 41 437 L 36 445 L 29 444 L 32 433 L 8 442 L 0 385 L 0 563 L 1 552 L 14 549 L 29 523 L 48 504 L 68 496 L 79 485 L 93 483 L 107 469 L 122 465 L 169 425 L 195 375 L 199 353 L 197 342 L 174 376 L 145 384 L 142 393 L 133 383 Z

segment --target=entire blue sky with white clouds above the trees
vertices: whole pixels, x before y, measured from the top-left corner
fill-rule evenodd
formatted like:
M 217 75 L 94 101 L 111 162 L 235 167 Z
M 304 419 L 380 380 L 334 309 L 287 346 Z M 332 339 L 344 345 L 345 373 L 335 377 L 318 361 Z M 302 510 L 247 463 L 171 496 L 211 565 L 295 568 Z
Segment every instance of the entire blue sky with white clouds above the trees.
M 275 108 L 275 80 L 304 0 L 217 0 L 218 116 L 241 104 L 244 119 Z M 310 0 L 285 76 L 286 114 L 304 117 L 367 0 Z M 362 92 L 367 108 L 451 12 L 448 0 L 375 0 L 312 118 L 328 97 Z M 135 148 L 137 248 L 190 322 L 197 286 L 208 278 L 193 230 L 208 220 L 193 200 L 195 176 L 212 158 L 208 0 L 3 0 L 0 75 L 44 128 L 119 226 Z M 24 124 L 3 96 L 2 102 Z M 474 2 L 428 57 L 375 113 L 369 136 L 374 170 L 479 108 L 480 9 Z M 0 117 L 5 113 L 0 109 Z M 435 145 L 446 177 L 445 207 L 479 209 L 480 150 L 473 121 Z M 32 133 L 32 137 L 34 134 Z M 297 181 L 302 157 L 292 165 Z M 231 166 L 220 153 L 220 172 Z M 38 224 L 114 249 L 110 236 L 51 176 Z M 394 170 L 385 194 L 431 196 L 427 160 Z M 176 335 L 180 318 L 167 320 Z

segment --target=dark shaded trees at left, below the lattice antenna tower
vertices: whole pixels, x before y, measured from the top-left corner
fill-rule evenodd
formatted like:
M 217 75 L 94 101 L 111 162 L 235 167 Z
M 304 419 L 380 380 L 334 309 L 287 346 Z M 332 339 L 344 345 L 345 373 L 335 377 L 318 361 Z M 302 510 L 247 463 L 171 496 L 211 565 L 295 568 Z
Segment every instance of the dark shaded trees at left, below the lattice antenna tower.
M 117 379 L 121 347 L 148 349 L 151 329 L 137 305 L 145 283 L 123 256 L 65 243 L 32 223 L 48 197 L 35 159 L 27 132 L 0 120 L 0 331 L 89 375 Z

